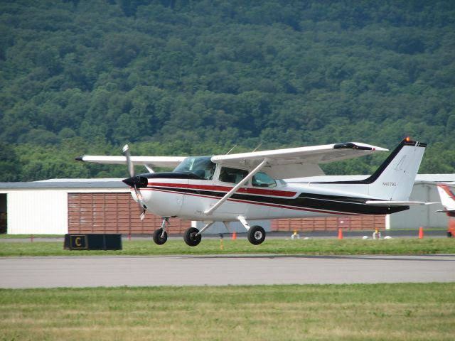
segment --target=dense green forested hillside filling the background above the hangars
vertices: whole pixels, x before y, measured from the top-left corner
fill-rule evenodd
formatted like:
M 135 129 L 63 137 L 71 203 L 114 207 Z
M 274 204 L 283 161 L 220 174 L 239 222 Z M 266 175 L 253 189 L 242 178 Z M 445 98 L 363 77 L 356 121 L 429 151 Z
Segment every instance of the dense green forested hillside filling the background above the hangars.
M 455 1 L 0 1 L 0 181 L 362 141 L 455 172 Z M 330 165 L 371 173 L 384 156 Z

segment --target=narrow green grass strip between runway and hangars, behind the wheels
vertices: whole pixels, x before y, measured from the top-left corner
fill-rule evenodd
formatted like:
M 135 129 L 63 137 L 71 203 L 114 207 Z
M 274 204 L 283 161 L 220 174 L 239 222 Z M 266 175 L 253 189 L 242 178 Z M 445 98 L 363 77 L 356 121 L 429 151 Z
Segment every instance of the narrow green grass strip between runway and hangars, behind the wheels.
M 203 239 L 197 247 L 183 240 L 156 245 L 149 240 L 124 241 L 122 251 L 68 251 L 63 242 L 1 242 L 0 256 L 87 256 L 172 254 L 455 254 L 455 238 L 424 239 L 267 239 L 254 246 L 246 239 Z

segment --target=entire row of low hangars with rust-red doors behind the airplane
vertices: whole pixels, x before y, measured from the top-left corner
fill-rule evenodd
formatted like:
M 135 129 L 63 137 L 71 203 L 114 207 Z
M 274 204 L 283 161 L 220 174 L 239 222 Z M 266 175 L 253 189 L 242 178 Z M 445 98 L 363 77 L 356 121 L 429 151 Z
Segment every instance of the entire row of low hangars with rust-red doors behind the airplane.
M 350 175 L 349 175 L 350 176 Z M 437 183 L 455 182 L 455 174 L 417 175 L 410 200 L 439 202 Z M 434 211 L 441 205 L 411 207 L 394 215 L 326 217 L 261 222 L 266 231 L 344 229 L 401 229 L 447 227 L 447 217 Z M 170 234 L 181 234 L 199 223 L 171 219 Z M 161 217 L 147 214 L 139 220 L 139 207 L 120 179 L 51 179 L 28 183 L 0 183 L 0 233 L 152 234 Z M 245 232 L 240 224 L 232 230 Z M 212 233 L 225 232 L 215 224 Z

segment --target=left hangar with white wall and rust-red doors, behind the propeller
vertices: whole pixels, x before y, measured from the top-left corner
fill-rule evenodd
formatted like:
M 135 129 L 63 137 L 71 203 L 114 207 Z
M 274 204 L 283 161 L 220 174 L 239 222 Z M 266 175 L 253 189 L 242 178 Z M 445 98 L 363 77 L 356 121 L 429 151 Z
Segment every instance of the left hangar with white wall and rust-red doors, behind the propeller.
M 0 183 L 3 231 L 8 234 L 151 234 L 161 217 L 139 220 L 139 207 L 120 179 L 52 179 Z M 171 220 L 174 233 L 191 222 Z

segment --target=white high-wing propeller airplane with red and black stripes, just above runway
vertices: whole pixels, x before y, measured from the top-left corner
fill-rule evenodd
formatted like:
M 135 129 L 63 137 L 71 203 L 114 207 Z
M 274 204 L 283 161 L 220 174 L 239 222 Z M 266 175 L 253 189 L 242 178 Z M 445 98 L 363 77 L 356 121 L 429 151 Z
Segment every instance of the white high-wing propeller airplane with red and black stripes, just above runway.
M 216 156 L 79 156 L 77 161 L 127 164 L 132 197 L 141 207 L 163 217 L 154 232 L 154 242 L 167 240 L 169 217 L 205 222 L 203 229 L 190 227 L 186 244 L 200 243 L 201 234 L 214 222 L 239 221 L 248 240 L 261 244 L 265 231 L 249 220 L 384 215 L 408 210 L 424 202 L 409 200 L 415 176 L 427 145 L 403 140 L 373 175 L 363 180 L 291 183 L 282 179 L 323 175 L 319 164 L 371 155 L 385 148 L 348 142 L 272 151 L 253 151 Z M 149 173 L 134 174 L 134 165 Z M 172 172 L 154 173 L 153 167 L 176 167 Z

